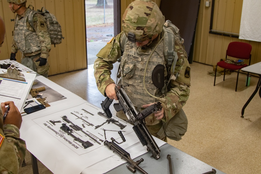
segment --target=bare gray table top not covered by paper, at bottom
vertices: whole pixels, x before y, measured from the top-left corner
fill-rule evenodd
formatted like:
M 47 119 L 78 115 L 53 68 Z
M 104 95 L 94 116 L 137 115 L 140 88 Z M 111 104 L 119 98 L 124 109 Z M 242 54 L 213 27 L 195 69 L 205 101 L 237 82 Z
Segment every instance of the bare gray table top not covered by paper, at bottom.
M 145 147 L 144 147 L 145 148 Z M 154 158 L 150 158 L 151 153 L 147 152 L 135 159 L 134 161 L 140 160 L 143 158 L 144 161 L 139 164 L 139 166 L 145 170 L 147 173 L 162 173 L 168 174 L 169 173 L 169 162 L 167 159 L 167 155 L 171 155 L 171 163 L 172 163 L 172 170 L 173 174 L 184 174 L 184 173 L 191 173 L 191 174 L 202 174 L 205 172 L 212 171 L 212 169 L 216 170 L 216 174 L 225 174 L 224 172 L 217 170 L 216 168 L 192 157 L 191 155 L 182 152 L 181 150 L 169 145 L 164 144 L 160 147 L 161 153 L 158 160 Z M 129 171 L 124 163 L 106 173 L 108 174 L 122 174 L 122 173 L 132 173 Z M 136 173 L 141 173 L 137 170 Z

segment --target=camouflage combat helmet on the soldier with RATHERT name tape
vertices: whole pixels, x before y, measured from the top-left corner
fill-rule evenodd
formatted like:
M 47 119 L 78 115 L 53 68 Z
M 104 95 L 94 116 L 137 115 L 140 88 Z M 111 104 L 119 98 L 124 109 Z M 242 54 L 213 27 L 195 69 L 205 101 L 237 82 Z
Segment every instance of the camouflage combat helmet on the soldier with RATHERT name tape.
M 136 0 L 129 4 L 122 17 L 122 28 L 129 41 L 143 42 L 161 33 L 165 18 L 157 4 Z

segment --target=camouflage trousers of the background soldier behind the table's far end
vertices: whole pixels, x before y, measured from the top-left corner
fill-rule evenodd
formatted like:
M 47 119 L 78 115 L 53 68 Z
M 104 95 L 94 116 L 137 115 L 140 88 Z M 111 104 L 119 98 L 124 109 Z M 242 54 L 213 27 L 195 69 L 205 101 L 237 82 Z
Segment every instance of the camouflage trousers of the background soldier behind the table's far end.
M 43 66 L 39 66 L 40 61 L 37 61 L 37 59 L 39 59 L 40 54 L 37 55 L 33 55 L 33 56 L 23 56 L 21 63 L 23 65 L 25 65 L 26 67 L 32 69 L 33 71 L 37 72 L 38 74 L 44 76 L 44 77 L 48 77 L 48 73 L 49 73 L 49 68 L 50 65 L 49 63 L 46 61 L 46 64 Z

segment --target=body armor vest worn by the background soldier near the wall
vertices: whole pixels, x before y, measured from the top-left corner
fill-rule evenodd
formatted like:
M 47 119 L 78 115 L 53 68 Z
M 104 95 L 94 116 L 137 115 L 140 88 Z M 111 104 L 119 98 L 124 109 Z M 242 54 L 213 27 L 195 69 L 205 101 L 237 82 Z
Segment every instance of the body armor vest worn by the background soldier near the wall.
M 24 54 L 33 53 L 41 50 L 40 40 L 36 32 L 27 29 L 27 17 L 32 13 L 28 10 L 25 17 L 20 20 L 18 16 L 15 19 L 14 40 L 17 48 Z

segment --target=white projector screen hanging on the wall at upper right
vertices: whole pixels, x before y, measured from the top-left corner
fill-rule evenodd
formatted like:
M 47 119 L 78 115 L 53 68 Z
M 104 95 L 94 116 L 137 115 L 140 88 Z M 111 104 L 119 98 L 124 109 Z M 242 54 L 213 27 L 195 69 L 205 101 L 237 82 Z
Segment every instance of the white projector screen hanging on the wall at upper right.
M 261 42 L 260 0 L 243 0 L 239 39 Z

